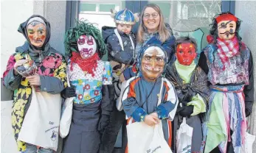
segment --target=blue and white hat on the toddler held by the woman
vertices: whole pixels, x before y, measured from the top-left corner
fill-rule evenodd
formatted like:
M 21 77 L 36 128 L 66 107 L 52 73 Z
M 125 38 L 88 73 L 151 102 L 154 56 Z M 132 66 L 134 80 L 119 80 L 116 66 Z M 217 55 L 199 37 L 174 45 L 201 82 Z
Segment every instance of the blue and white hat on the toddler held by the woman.
M 114 22 L 117 24 L 130 24 L 134 25 L 136 23 L 134 13 L 131 12 L 131 10 L 120 10 L 115 16 L 114 16 Z

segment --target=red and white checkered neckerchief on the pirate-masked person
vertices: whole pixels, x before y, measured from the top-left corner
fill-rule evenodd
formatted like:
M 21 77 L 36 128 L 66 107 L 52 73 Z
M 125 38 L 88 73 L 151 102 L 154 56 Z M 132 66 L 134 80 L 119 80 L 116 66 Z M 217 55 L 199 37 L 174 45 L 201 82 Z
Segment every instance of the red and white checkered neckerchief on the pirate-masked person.
M 231 40 L 217 39 L 218 56 L 221 58 L 221 62 L 226 65 L 229 64 L 229 58 L 235 56 L 239 52 L 238 38 L 234 37 Z

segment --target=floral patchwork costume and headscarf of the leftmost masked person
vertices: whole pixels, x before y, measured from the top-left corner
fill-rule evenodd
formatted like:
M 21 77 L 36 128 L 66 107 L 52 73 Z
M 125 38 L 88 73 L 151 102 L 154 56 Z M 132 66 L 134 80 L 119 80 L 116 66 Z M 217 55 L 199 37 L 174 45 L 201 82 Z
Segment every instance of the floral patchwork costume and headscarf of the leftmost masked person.
M 46 40 L 41 47 L 35 47 L 32 45 L 27 33 L 27 25 L 38 25 L 38 22 L 43 23 L 46 26 Z M 60 93 L 63 88 L 66 87 L 66 61 L 63 56 L 58 53 L 49 45 L 50 38 L 50 25 L 40 15 L 32 15 L 27 21 L 21 24 L 18 28 L 18 32 L 21 32 L 28 42 L 23 46 L 19 46 L 15 50 L 15 54 L 10 56 L 7 64 L 7 70 L 4 71 L 4 86 L 10 90 L 14 90 L 14 101 L 12 111 L 12 127 L 15 133 L 15 140 L 18 139 L 18 133 L 21 130 L 24 117 L 27 110 L 30 107 L 32 99 L 32 85 L 26 77 L 22 77 L 20 74 L 14 74 L 14 65 L 18 60 L 30 59 L 37 65 L 36 73 L 40 76 L 41 86 L 37 90 L 41 90 L 47 93 Z M 26 143 L 18 141 L 19 152 L 36 152 L 36 146 L 26 145 Z M 30 146 L 30 147 L 26 147 Z M 42 150 L 41 150 L 42 151 Z M 44 152 L 52 152 L 50 149 L 44 149 Z

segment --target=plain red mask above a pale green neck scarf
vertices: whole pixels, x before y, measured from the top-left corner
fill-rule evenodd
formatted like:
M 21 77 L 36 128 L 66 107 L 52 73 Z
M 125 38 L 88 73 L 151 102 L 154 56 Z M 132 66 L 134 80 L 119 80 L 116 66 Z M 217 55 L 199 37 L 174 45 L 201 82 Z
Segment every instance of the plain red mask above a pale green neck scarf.
M 196 58 L 196 49 L 192 43 L 181 43 L 177 46 L 176 57 L 181 65 L 190 65 Z

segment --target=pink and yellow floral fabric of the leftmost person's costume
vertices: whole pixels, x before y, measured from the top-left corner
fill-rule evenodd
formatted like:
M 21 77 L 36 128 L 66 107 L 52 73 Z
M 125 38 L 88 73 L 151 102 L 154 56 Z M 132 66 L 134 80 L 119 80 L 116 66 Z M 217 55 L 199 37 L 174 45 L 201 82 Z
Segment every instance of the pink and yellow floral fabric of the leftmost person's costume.
M 26 104 L 31 100 L 32 87 L 29 84 L 28 80 L 20 75 L 13 75 L 13 66 L 16 61 L 21 59 L 30 58 L 30 55 L 27 53 L 15 53 L 10 56 L 10 59 L 7 64 L 7 70 L 4 71 L 4 79 L 8 80 L 8 86 L 13 82 L 20 79 L 20 84 L 17 85 L 18 88 L 13 88 L 14 91 L 14 101 L 13 101 L 13 111 L 12 111 L 12 127 L 15 134 L 15 140 L 18 139 L 18 133 L 21 130 L 21 126 L 24 120 L 24 113 Z M 51 52 L 47 57 L 44 58 L 42 63 L 38 65 L 37 73 L 42 76 L 48 77 L 57 77 L 60 79 L 64 86 L 66 87 L 66 62 L 62 56 L 58 53 Z M 11 76 L 11 77 L 10 77 Z M 7 78 L 10 77 L 10 78 Z M 11 88 L 11 87 L 7 87 Z M 26 149 L 26 143 L 18 141 L 18 151 L 24 151 Z

